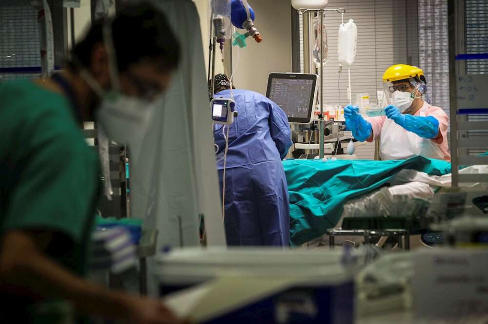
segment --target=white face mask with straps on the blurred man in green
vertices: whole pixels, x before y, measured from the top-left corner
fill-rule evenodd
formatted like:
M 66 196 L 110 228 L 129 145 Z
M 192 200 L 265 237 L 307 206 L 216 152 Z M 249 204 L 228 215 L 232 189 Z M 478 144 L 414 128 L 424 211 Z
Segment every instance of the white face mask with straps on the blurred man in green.
M 103 28 L 103 40 L 108 53 L 111 91 L 105 91 L 86 70 L 80 72 L 81 77 L 102 100 L 97 111 L 97 122 L 102 125 L 107 137 L 119 144 L 139 146 L 151 120 L 153 107 L 161 102 L 150 102 L 122 93 L 110 27 Z

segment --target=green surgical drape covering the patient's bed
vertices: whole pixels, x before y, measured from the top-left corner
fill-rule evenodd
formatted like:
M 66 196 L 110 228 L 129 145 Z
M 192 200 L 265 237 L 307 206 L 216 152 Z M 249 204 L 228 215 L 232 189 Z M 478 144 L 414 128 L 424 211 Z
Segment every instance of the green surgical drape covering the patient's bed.
M 413 169 L 430 175 L 451 172 L 446 161 L 423 156 L 408 160 L 285 160 L 290 194 L 290 244 L 304 244 L 336 226 L 347 199 L 388 183 L 398 172 Z

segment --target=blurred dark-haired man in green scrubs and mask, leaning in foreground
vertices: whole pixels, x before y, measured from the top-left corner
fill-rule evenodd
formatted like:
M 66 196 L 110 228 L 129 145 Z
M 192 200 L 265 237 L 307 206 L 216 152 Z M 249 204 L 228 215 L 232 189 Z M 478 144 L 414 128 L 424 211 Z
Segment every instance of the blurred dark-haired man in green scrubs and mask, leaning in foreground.
M 77 317 L 181 323 L 159 301 L 82 279 L 99 161 L 81 124 L 137 137 L 179 57 L 165 16 L 142 2 L 95 23 L 60 74 L 0 85 L 0 323 L 38 323 L 55 302 Z

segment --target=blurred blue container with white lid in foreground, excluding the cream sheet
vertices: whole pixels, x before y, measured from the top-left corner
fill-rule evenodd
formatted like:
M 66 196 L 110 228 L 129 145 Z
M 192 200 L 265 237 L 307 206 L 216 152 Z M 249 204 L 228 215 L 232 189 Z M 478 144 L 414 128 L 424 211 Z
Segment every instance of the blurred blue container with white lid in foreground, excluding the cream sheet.
M 298 279 L 203 323 L 352 324 L 354 282 L 343 259 L 341 251 L 187 248 L 158 257 L 155 275 L 161 296 L 225 275 Z

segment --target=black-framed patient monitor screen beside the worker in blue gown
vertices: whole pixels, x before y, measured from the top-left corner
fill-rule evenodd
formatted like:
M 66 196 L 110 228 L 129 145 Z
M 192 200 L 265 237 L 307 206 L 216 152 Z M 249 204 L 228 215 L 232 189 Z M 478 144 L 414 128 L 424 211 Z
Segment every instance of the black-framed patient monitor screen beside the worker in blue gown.
M 313 74 L 272 73 L 266 96 L 283 109 L 290 123 L 309 123 L 316 84 Z

